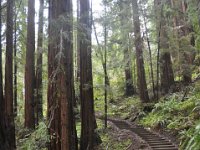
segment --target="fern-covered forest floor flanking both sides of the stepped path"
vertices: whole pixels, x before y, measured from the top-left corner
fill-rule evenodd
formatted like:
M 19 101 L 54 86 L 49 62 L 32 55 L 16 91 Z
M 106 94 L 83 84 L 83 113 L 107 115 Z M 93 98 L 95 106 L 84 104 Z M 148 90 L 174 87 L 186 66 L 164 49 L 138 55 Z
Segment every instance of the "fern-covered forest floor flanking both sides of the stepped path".
M 185 94 L 186 91 L 187 93 Z M 101 117 L 103 117 L 103 114 L 100 113 L 103 112 L 103 104 L 103 101 L 95 101 L 96 112 Z M 152 106 L 151 111 L 143 111 L 144 105 L 140 103 L 137 96 L 119 97 L 109 103 L 108 115 L 111 118 L 120 118 L 133 124 L 142 125 L 152 132 L 170 139 L 175 145 L 179 145 L 181 150 L 187 149 L 191 144 L 192 146 L 199 144 L 200 81 L 187 87 L 183 86 L 180 91 L 170 93 L 162 97 L 159 102 L 147 105 Z M 102 122 L 101 126 L 103 126 Z M 137 135 L 132 135 L 124 130 L 117 130 L 112 123 L 109 123 L 109 128 L 106 132 L 100 132 L 103 139 L 100 147 L 105 150 L 126 150 L 133 143 L 140 143 L 140 139 L 135 138 Z M 106 138 L 104 138 L 105 136 Z M 119 141 L 118 138 L 123 139 L 123 141 Z M 121 147 L 112 147 L 115 144 L 121 144 Z M 139 147 L 144 145 L 141 143 Z M 130 149 L 134 149 L 134 147 Z

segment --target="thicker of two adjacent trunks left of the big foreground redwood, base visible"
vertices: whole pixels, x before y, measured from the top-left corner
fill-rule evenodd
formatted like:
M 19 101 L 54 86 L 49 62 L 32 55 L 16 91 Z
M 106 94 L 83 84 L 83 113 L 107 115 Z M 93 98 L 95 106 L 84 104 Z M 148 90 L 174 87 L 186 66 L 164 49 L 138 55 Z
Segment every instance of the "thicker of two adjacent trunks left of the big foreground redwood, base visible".
M 25 127 L 35 128 L 35 0 L 28 1 L 28 26 L 25 66 Z

